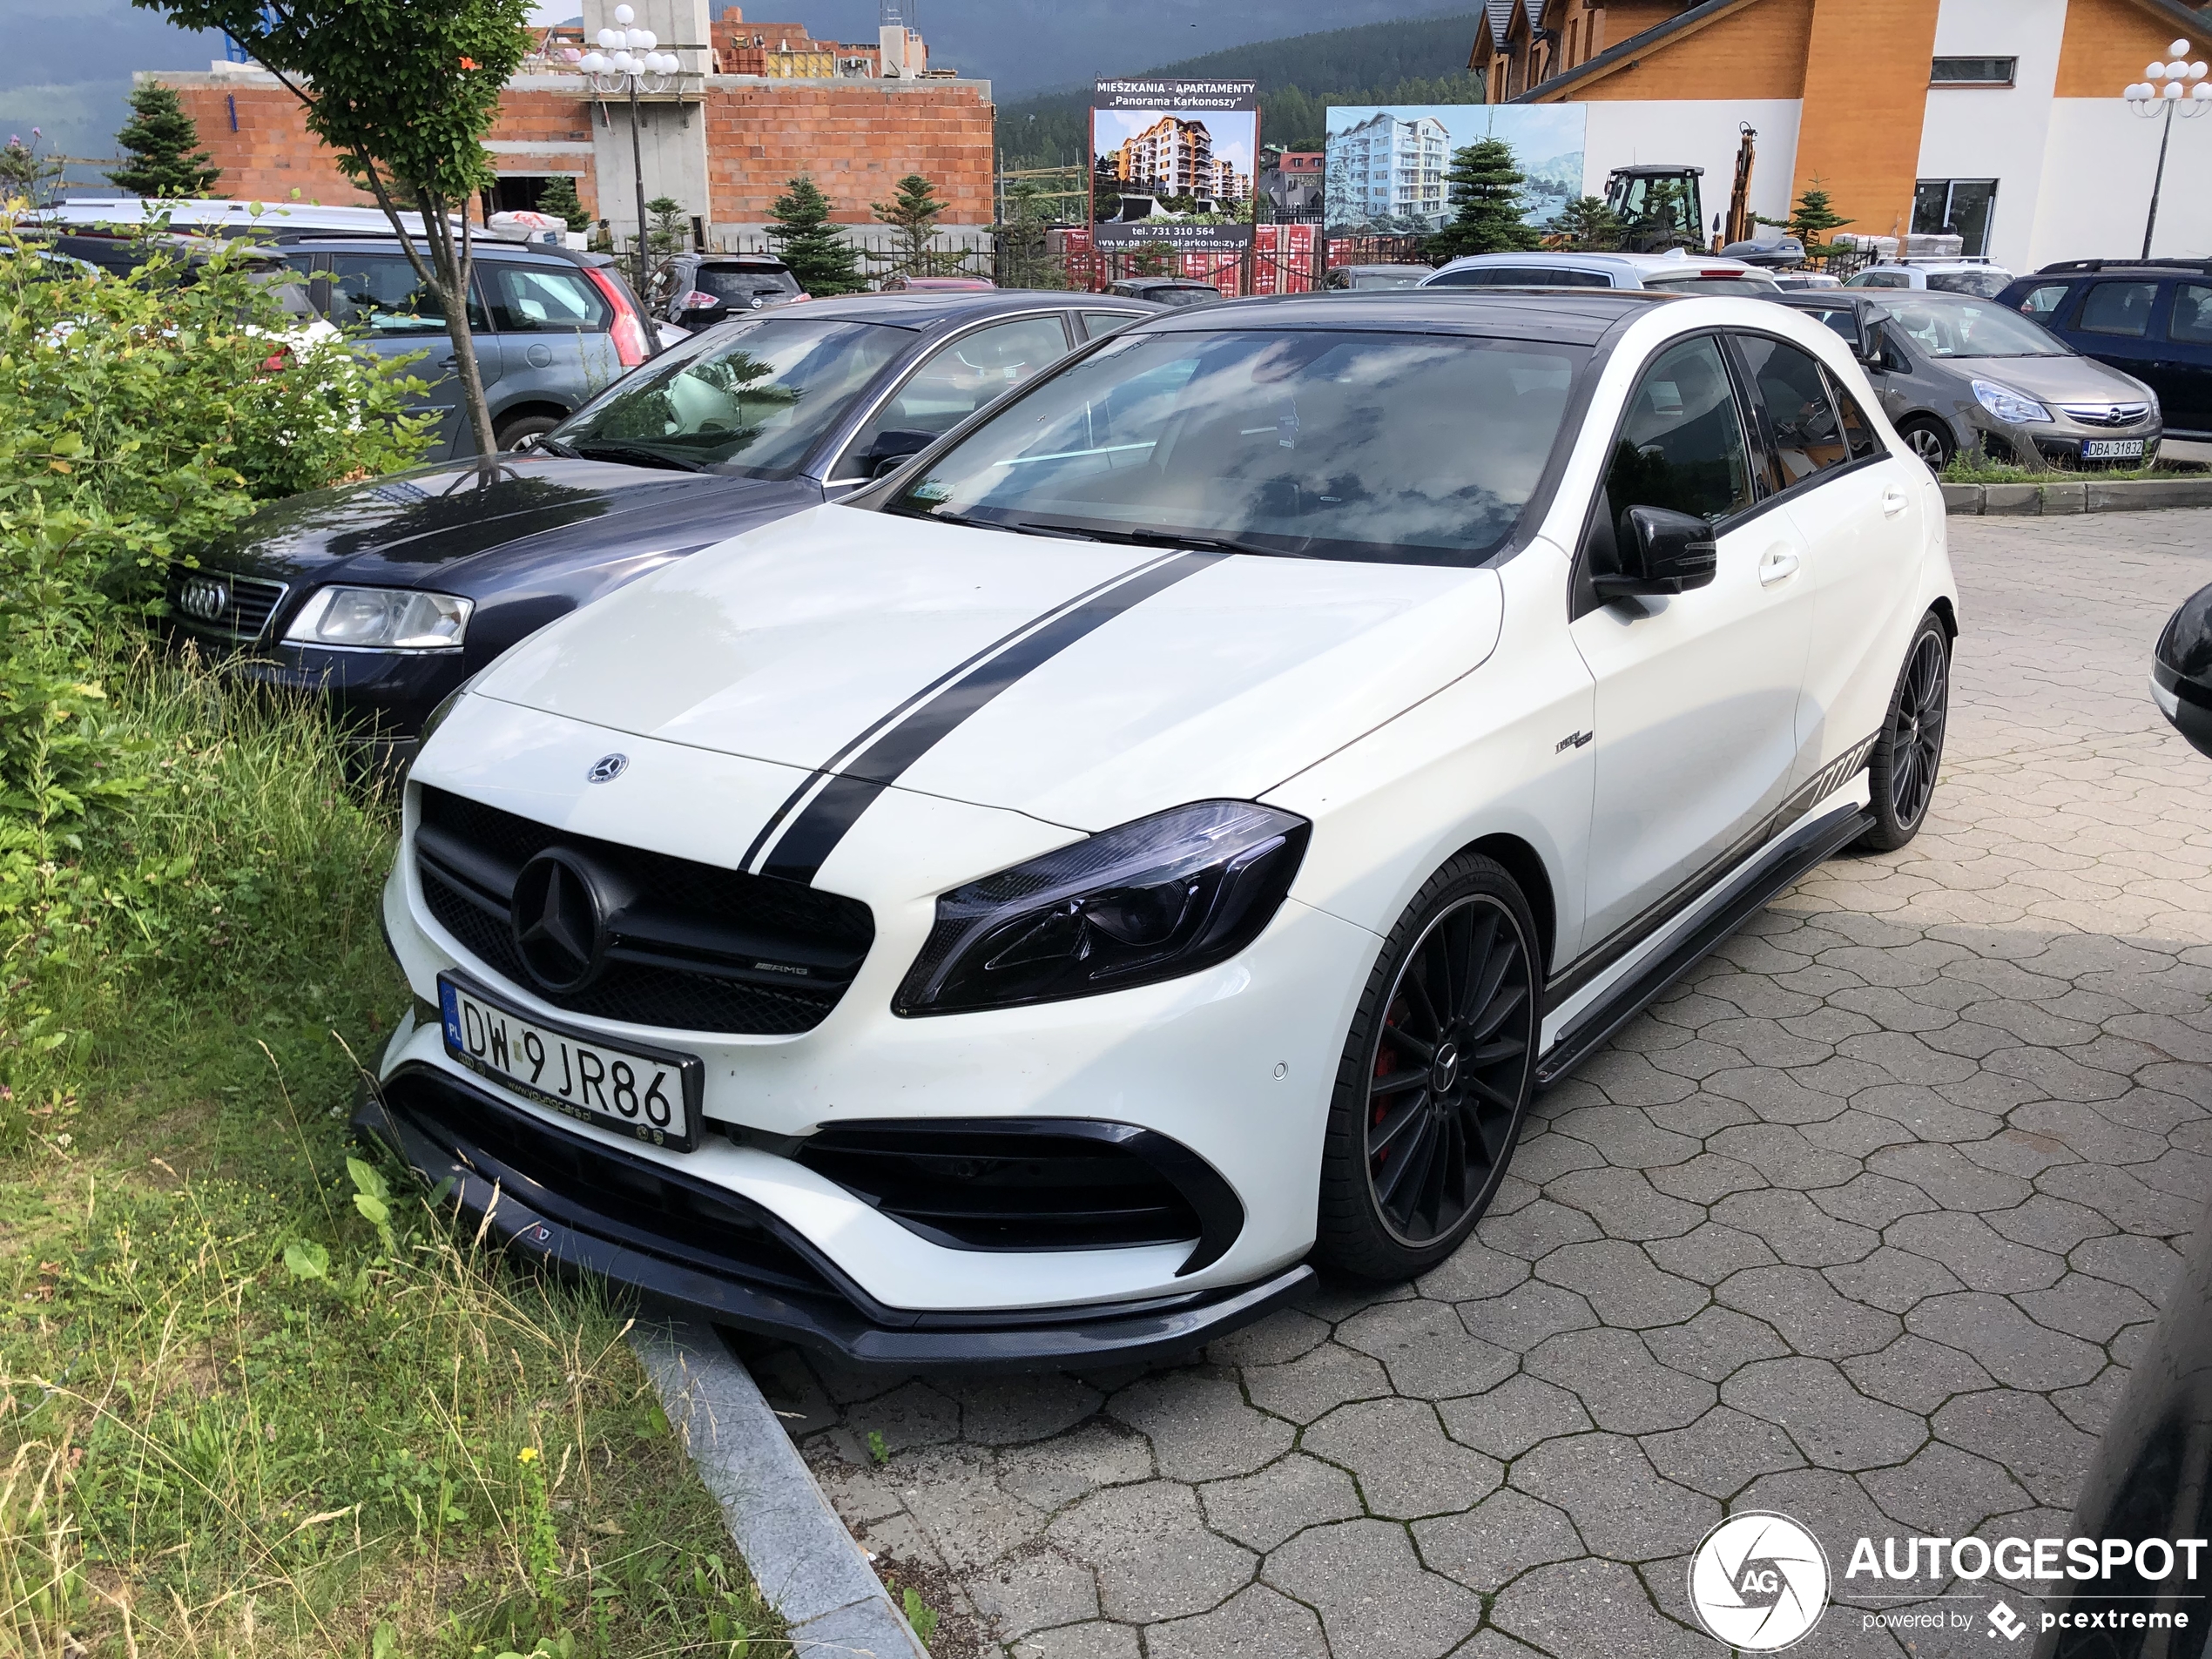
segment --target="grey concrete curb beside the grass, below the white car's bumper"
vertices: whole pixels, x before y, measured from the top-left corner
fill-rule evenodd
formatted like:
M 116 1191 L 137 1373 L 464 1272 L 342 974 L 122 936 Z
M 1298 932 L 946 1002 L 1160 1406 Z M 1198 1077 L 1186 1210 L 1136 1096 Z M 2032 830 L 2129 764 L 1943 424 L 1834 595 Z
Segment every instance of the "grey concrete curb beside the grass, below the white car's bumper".
M 792 1626 L 792 1650 L 805 1659 L 929 1659 L 721 1338 L 679 1321 L 639 1325 L 630 1347 L 761 1595 Z

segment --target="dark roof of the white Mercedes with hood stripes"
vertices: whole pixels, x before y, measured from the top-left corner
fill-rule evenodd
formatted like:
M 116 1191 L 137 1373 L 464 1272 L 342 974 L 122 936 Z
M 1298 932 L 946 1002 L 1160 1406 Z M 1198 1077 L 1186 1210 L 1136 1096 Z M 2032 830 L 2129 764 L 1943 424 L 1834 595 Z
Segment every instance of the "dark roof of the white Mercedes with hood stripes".
M 1358 327 L 1405 334 L 1484 334 L 1511 341 L 1597 345 L 1615 323 L 1652 305 L 1681 305 L 1679 294 L 1632 288 L 1365 288 L 1352 292 L 1237 299 L 1203 310 L 1164 312 L 1135 327 Z

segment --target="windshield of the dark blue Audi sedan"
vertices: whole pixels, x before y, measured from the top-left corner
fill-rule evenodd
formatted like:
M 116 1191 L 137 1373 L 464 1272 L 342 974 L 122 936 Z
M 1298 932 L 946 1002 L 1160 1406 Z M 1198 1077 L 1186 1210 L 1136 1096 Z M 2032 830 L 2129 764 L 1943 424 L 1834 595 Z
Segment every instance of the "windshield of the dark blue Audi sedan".
M 914 334 L 880 323 L 726 323 L 555 427 L 555 451 L 790 478 Z M 617 453 L 619 451 L 619 453 Z

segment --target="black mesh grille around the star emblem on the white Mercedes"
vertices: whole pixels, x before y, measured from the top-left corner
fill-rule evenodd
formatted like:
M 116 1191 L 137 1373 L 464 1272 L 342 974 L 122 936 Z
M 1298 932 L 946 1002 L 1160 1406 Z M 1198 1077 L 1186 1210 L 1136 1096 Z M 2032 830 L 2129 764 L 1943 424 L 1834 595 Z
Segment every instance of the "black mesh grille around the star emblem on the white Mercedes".
M 597 978 L 546 989 L 515 947 L 515 876 L 549 847 L 575 854 L 613 902 Z M 787 1037 L 818 1026 L 876 938 L 867 905 L 595 836 L 571 836 L 447 790 L 422 790 L 416 872 L 431 916 L 487 969 L 602 1020 Z

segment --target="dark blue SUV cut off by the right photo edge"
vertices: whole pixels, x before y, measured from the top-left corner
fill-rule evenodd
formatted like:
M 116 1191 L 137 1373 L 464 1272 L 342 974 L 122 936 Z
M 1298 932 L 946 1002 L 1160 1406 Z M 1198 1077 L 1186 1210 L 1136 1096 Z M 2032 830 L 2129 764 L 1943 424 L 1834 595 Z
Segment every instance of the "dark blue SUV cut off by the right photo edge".
M 2068 259 L 1997 299 L 2157 392 L 2168 438 L 2212 442 L 2212 259 Z

